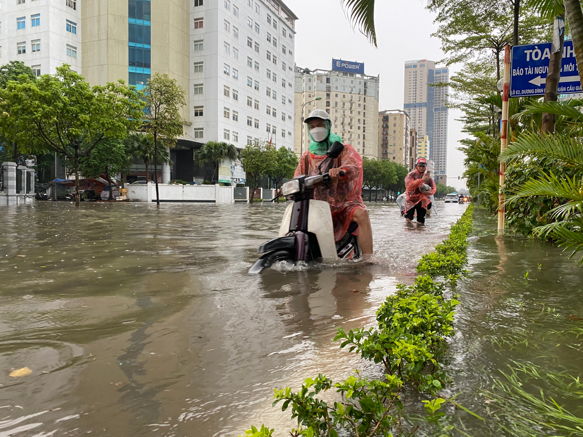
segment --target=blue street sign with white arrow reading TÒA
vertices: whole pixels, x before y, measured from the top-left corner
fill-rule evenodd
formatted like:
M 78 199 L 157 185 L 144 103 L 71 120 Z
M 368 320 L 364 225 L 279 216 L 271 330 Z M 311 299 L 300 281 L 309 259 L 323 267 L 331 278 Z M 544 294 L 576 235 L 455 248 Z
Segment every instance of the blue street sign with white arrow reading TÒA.
M 510 97 L 543 96 L 551 43 L 515 45 L 510 65 Z M 559 94 L 581 93 L 573 41 L 565 41 Z

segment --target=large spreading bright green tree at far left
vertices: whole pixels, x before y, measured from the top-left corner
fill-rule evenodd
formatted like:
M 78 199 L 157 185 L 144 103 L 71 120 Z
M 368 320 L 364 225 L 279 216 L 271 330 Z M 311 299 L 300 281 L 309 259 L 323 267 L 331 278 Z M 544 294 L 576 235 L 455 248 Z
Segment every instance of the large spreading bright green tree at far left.
M 8 82 L 0 90 L 2 132 L 18 132 L 20 144 L 51 150 L 72 163 L 79 206 L 79 165 L 101 142 L 125 138 L 142 117 L 141 94 L 122 80 L 90 87 L 69 65 L 36 82 Z M 25 150 L 26 151 L 26 150 Z

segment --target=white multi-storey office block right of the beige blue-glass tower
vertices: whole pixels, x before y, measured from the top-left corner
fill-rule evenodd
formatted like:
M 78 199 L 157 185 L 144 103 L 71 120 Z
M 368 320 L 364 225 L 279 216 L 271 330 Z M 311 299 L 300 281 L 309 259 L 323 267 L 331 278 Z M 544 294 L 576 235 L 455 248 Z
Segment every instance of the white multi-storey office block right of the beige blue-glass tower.
M 191 7 L 192 139 L 293 150 L 297 17 L 277 0 L 218 3 Z

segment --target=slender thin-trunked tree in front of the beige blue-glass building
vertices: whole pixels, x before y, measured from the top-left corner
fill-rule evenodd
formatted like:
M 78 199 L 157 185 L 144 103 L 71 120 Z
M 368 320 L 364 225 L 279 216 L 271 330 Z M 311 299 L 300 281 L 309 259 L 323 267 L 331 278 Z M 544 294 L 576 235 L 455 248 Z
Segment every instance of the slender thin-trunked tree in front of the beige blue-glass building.
M 167 74 L 154 73 L 147 80 L 145 91 L 146 109 L 141 131 L 149 133 L 154 139 L 154 179 L 156 181 L 156 205 L 160 206 L 158 192 L 158 153 L 160 143 L 173 147 L 185 121 L 180 110 L 186 104 L 184 89 Z

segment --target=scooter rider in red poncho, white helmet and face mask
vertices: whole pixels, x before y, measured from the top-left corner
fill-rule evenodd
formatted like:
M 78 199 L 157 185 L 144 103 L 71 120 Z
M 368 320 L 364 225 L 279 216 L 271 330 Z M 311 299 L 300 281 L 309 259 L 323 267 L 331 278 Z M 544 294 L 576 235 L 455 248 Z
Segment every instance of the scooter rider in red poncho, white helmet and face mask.
M 336 141 L 342 139 L 331 132 L 332 122 L 328 112 L 323 110 L 312 111 L 310 117 L 305 119 L 308 125 L 310 150 L 305 151 L 296 168 L 296 174 L 315 176 L 320 174 L 318 165 L 326 157 L 326 151 Z M 368 258 L 373 253 L 373 230 L 368 218 L 368 210 L 364 206 L 361 197 L 363 186 L 363 160 L 349 144 L 344 145 L 344 150 L 336 160 L 332 162 L 329 176 L 332 184 L 320 186 L 314 192 L 314 199 L 325 200 L 330 204 L 332 221 L 334 223 L 334 239 L 339 241 L 348 230 L 350 223 L 355 221 L 359 227 L 359 244 L 363 256 Z M 340 171 L 345 171 L 340 176 Z

